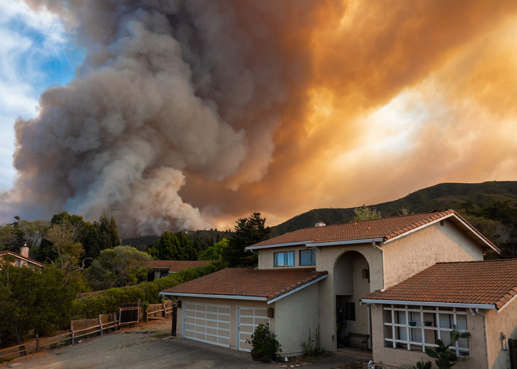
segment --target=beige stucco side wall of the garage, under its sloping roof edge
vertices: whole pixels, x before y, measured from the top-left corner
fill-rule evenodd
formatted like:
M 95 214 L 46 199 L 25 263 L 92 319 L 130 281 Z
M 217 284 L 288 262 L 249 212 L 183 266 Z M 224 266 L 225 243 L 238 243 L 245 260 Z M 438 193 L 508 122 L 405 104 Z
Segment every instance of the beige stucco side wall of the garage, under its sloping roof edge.
M 308 342 L 309 328 L 314 340 L 318 327 L 318 284 L 316 282 L 295 293 L 274 302 L 275 330 L 282 345 L 282 356 L 298 355 L 303 352 L 302 342 Z

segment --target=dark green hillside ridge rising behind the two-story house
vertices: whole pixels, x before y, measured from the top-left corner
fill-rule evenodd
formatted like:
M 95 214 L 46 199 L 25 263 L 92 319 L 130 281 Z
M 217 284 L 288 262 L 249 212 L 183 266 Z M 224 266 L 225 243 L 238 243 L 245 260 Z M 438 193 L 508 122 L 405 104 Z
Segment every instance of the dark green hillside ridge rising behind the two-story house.
M 418 213 L 433 209 L 458 209 L 467 200 L 472 200 L 477 205 L 488 205 L 494 201 L 516 199 L 517 181 L 439 183 L 394 201 L 367 206 L 380 211 L 383 217 L 389 217 L 396 215 L 402 208 L 409 208 L 411 212 Z M 312 227 L 318 221 L 334 224 L 351 221 L 353 217 L 354 208 L 313 209 L 271 227 L 271 237 L 300 228 Z

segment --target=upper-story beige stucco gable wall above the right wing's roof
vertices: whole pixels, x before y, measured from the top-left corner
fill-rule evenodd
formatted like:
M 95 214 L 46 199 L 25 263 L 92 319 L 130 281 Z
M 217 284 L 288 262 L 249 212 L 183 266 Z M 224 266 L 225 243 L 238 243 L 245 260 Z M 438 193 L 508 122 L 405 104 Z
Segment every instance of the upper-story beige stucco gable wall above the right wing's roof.
M 382 245 L 389 288 L 439 262 L 482 260 L 481 247 L 449 219 Z M 372 267 L 373 269 L 373 267 Z

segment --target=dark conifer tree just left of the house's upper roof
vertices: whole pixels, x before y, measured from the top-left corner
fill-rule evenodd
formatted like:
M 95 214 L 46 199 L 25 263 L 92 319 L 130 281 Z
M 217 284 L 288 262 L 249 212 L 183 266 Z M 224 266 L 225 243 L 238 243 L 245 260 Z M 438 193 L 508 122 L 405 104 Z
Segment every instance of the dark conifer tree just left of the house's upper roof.
M 271 228 L 265 225 L 266 218 L 255 212 L 249 218 L 240 218 L 235 223 L 235 232 L 228 242 L 223 259 L 230 267 L 251 267 L 257 265 L 256 255 L 246 252 L 245 248 L 269 238 Z

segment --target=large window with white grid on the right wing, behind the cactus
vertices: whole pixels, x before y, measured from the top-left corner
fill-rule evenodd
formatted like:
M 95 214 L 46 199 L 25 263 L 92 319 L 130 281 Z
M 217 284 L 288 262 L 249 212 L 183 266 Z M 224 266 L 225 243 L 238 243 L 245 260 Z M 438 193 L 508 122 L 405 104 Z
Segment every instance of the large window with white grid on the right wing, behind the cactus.
M 447 344 L 454 324 L 456 331 L 467 332 L 466 311 L 459 308 L 449 309 L 439 306 L 431 308 L 430 306 L 384 305 L 384 325 L 389 327 L 384 340 L 394 348 L 402 346 L 411 350 L 417 347 L 422 351 L 425 347 L 436 347 L 434 341 L 438 338 Z M 430 325 L 422 324 L 422 320 L 430 322 Z M 412 322 L 412 325 L 409 325 L 409 322 Z M 434 334 L 430 334 L 431 332 Z M 434 339 L 430 339 L 430 335 L 434 335 Z M 459 339 L 450 346 L 450 350 L 455 351 L 458 357 L 468 356 L 468 339 Z

